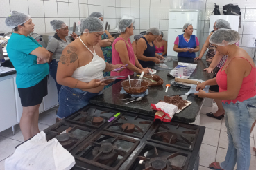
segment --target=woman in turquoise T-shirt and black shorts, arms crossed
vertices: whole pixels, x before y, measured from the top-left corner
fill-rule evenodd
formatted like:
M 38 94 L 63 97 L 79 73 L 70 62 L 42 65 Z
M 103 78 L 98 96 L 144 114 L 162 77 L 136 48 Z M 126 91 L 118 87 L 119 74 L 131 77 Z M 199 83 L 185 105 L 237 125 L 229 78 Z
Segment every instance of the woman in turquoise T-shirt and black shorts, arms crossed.
M 17 71 L 16 84 L 23 108 L 19 126 L 24 140 L 28 140 L 40 132 L 39 107 L 47 95 L 50 54 L 28 36 L 35 26 L 29 15 L 12 11 L 6 18 L 6 26 L 14 30 L 6 50 Z

